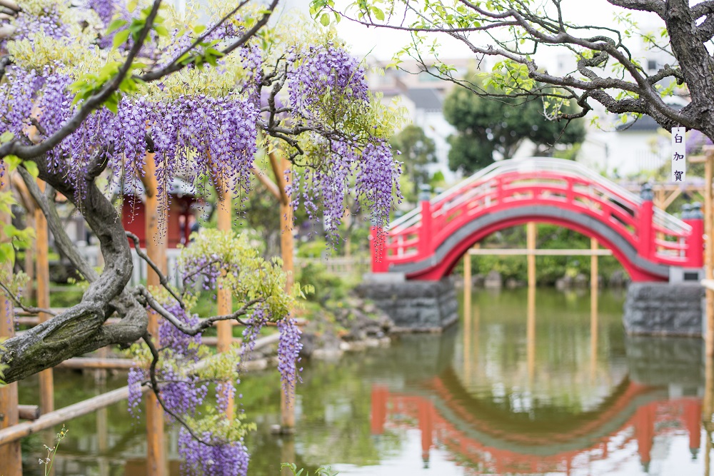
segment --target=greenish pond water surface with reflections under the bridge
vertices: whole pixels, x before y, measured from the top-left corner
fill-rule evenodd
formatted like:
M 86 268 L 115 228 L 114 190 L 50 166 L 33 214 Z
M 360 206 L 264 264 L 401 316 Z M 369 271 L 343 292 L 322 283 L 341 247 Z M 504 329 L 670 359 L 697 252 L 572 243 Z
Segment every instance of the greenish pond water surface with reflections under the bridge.
M 444 333 L 305 362 L 293 437 L 270 432 L 278 374 L 246 375 L 241 405 L 258 425 L 248 474 L 277 476 L 290 461 L 311 474 L 705 475 L 703 342 L 625 337 L 623 300 L 603 292 L 595 310 L 588 293 L 474 291 L 471 313 Z M 97 384 L 93 372 L 56 370 L 55 383 L 63 407 L 126 385 L 126 374 Z M 36 403 L 36 379 L 20 393 Z M 145 474 L 144 421 L 126 402 L 66 427 L 56 475 Z M 25 474 L 43 474 L 50 437 L 24 441 Z M 179 474 L 176 431 L 167 439 Z

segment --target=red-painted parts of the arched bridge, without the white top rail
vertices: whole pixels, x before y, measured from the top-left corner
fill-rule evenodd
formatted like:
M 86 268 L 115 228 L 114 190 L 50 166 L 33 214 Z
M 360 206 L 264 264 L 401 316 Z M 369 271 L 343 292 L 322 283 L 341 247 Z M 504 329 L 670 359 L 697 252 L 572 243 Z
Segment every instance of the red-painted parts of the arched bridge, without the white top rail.
M 456 231 L 480 216 L 512 210 L 521 206 L 545 206 L 589 216 L 613 229 L 628 240 L 638 255 L 653 263 L 700 268 L 703 265 L 703 222 L 688 220 L 690 232 L 672 231 L 653 222 L 651 201 L 635 203 L 622 196 L 606 183 L 590 183 L 557 171 L 508 171 L 490 176 L 482 181 L 466 183 L 461 189 L 441 196 L 439 201 L 421 203 L 421 221 L 399 230 L 391 231 L 383 247 L 379 264 L 373 253 L 373 271 L 387 272 L 390 265 L 414 263 L 433 255 L 445 240 Z M 630 263 L 625 255 L 608 243 L 598 233 L 570 223 L 566 219 L 528 217 L 506 220 L 489 226 L 487 230 L 464 238 L 433 268 L 408 275 L 410 279 L 437 280 L 451 272 L 458 258 L 473 243 L 490 233 L 517 226 L 527 221 L 555 223 L 597 238 L 613 251 L 635 281 L 662 280 L 663 278 L 641 270 Z M 658 239 L 657 236 L 664 236 Z M 669 254 L 668 254 L 669 252 Z M 672 253 L 675 252 L 675 253 Z

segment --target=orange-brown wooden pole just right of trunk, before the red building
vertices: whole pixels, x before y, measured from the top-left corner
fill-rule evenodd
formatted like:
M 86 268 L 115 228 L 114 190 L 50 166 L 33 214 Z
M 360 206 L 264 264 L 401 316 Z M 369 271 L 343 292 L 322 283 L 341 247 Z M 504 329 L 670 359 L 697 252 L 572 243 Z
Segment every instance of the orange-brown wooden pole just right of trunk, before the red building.
M 166 274 L 166 236 L 161 233 L 159 226 L 166 223 L 166 207 L 159 203 L 156 183 L 156 163 L 154 154 L 146 154 L 144 166 L 144 191 L 145 226 L 146 226 L 146 255 Z M 151 267 L 147 267 L 146 285 L 161 285 L 159 275 Z M 149 334 L 159 346 L 159 316 L 153 311 L 149 312 Z M 146 469 L 147 476 L 165 476 L 166 465 L 166 436 L 164 435 L 164 410 L 159 406 L 159 400 L 151 392 L 146 397 Z

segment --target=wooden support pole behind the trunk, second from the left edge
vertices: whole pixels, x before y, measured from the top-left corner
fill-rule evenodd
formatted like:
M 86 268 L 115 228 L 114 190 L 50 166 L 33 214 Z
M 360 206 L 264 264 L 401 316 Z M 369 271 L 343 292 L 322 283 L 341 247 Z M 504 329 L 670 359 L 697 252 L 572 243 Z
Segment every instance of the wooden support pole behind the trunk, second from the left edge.
M 37 180 L 37 185 L 44 192 L 45 183 Z M 47 220 L 39 207 L 35 208 L 35 250 L 37 281 L 37 307 L 48 309 L 49 304 L 49 239 L 47 233 Z M 39 323 L 51 319 L 51 315 L 39 313 Z M 54 375 L 51 368 L 39 373 L 40 380 L 40 408 L 43 413 L 54 410 Z

